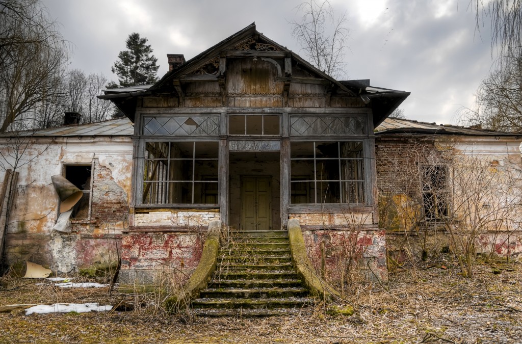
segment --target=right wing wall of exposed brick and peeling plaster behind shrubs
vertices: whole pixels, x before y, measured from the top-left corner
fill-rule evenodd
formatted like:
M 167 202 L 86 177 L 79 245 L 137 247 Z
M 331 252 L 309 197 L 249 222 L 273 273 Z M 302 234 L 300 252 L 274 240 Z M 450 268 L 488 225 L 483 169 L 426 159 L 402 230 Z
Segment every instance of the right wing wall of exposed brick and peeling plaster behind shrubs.
M 483 203 L 493 203 L 485 205 L 479 211 L 487 211 L 488 208 L 495 209 L 495 207 L 500 209 L 508 204 L 512 205 L 509 206 L 509 212 L 505 216 L 500 216 L 506 220 L 495 222 L 497 227 L 494 230 L 483 231 L 477 235 L 474 244 L 476 253 L 511 256 L 519 259 L 522 256 L 522 207 L 519 203 L 520 195 L 522 195 L 520 140 L 520 137 L 501 136 L 412 137 L 388 135 L 378 137 L 376 139 L 376 161 L 379 208 L 385 203 L 384 198 L 389 196 L 392 196 L 390 199 L 400 196 L 408 200 L 406 203 L 402 202 L 406 204 L 404 208 L 393 208 L 392 216 L 397 218 L 392 222 L 385 221 L 382 216 L 383 209 L 379 210 L 381 214 L 379 224 L 381 226 L 383 223 L 392 225 L 386 228 L 390 247 L 399 252 L 404 251 L 408 246 L 406 254 L 414 256 L 419 256 L 422 251 L 420 242 L 423 239 L 417 238 L 414 231 L 409 232 L 411 226 L 406 226 L 406 224 L 411 224 L 411 221 L 404 221 L 400 218 L 400 214 L 405 211 L 421 211 L 418 206 L 421 204 L 418 195 L 414 193 L 416 187 L 420 185 L 417 175 L 418 163 L 425 161 L 425 156 L 430 154 L 431 149 L 442 158 L 454 159 L 456 162 L 452 164 L 452 168 L 455 169 L 452 171 L 452 175 L 459 175 L 462 180 L 476 180 L 483 177 L 484 174 L 492 178 L 490 185 L 493 193 L 489 194 L 492 197 L 488 198 L 488 201 L 484 198 Z M 424 150 L 420 149 L 420 145 L 424 145 Z M 391 161 L 394 163 L 386 163 Z M 428 159 L 426 162 L 430 162 L 430 160 Z M 475 168 L 477 164 L 482 164 L 481 168 L 484 166 L 487 168 L 477 171 Z M 394 166 L 400 168 L 400 171 L 393 171 Z M 408 169 L 412 171 L 409 174 Z M 405 191 L 407 194 L 404 194 Z M 450 206 L 454 206 L 455 202 L 458 203 L 458 199 L 454 199 Z M 460 216 L 459 211 L 454 209 L 452 211 L 454 216 Z M 433 227 L 431 224 L 430 226 Z M 451 246 L 442 224 L 437 229 L 431 227 L 426 239 L 428 251 L 440 252 L 442 246 Z M 405 238 L 406 232 L 408 232 L 408 238 Z M 408 241 L 408 245 L 405 245 L 404 243 L 408 239 L 411 240 Z

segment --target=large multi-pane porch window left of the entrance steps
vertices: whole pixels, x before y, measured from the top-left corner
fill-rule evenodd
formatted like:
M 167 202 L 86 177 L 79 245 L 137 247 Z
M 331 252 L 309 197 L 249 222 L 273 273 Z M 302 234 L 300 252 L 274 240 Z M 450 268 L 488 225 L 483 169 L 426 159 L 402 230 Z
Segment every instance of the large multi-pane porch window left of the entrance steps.
M 143 204 L 218 203 L 218 143 L 147 142 Z

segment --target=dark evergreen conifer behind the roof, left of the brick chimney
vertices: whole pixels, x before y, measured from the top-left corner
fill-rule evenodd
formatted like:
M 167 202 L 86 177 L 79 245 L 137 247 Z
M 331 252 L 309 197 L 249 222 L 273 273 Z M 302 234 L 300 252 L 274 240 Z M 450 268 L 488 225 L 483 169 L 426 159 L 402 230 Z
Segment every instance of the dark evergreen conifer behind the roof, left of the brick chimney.
M 158 59 L 152 54 L 152 49 L 146 38 L 139 33 L 129 34 L 125 42 L 127 50 L 118 54 L 120 61 L 114 62 L 112 73 L 118 76 L 120 87 L 153 84 L 158 81 L 156 73 Z

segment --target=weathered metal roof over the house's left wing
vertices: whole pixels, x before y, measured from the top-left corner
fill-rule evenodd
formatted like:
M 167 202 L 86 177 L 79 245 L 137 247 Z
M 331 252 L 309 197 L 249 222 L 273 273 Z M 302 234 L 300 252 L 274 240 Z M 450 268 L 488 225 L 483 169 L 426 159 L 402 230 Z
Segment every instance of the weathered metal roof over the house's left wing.
M 21 136 L 131 136 L 134 127 L 128 118 L 119 118 L 105 122 L 66 125 L 58 128 L 42 129 L 37 132 L 22 132 Z M 5 133 L 1 136 L 11 136 Z

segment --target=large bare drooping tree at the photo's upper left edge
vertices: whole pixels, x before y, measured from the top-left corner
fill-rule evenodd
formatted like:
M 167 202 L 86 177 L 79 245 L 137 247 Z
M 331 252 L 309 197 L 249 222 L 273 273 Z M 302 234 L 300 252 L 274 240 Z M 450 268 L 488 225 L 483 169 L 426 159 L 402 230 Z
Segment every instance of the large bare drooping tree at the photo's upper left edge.
M 62 92 L 68 46 L 38 0 L 0 1 L 0 132 Z

